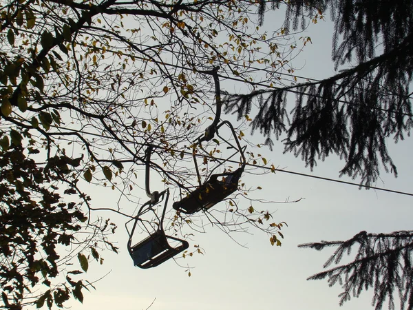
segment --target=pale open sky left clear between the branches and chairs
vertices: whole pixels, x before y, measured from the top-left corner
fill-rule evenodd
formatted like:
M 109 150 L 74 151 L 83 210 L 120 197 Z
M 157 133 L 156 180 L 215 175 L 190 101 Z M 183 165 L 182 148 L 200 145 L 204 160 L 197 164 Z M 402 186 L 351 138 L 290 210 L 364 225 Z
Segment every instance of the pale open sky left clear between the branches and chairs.
M 264 26 L 271 29 L 272 21 L 267 16 Z M 305 35 L 311 37 L 313 44 L 295 59 L 296 67 L 304 67 L 296 73 L 314 79 L 334 74 L 330 61 L 332 24 L 320 22 L 312 25 Z M 231 85 L 228 87 L 231 89 Z M 222 118 L 231 119 L 225 115 Z M 258 133 L 248 138 L 257 143 L 263 141 Z M 389 141 L 389 145 L 390 155 L 399 168 L 399 177 L 383 172 L 377 187 L 413 192 L 412 139 L 407 138 L 398 145 Z M 260 149 L 275 167 L 339 178 L 343 162 L 335 156 L 326 158 L 324 163 L 319 162 L 314 172 L 310 172 L 300 158 L 282 151 L 281 143 L 275 144 L 273 152 Z M 173 260 L 153 269 L 138 269 L 127 253 L 127 234 L 122 225 L 125 219 L 110 214 L 112 220 L 120 223 L 114 236 L 120 254 L 106 251 L 103 265 L 90 264 L 87 271 L 89 280 L 106 276 L 94 284 L 96 291 L 85 292 L 83 304 L 70 300 L 67 307 L 75 310 L 140 310 L 149 306 L 151 310 L 373 309 L 372 291 L 366 291 L 360 298 L 352 298 L 339 307 L 339 287 L 328 287 L 325 280 L 306 280 L 322 270 L 331 251 L 299 249 L 297 245 L 320 240 L 346 240 L 362 230 L 377 233 L 411 229 L 412 197 L 360 190 L 355 186 L 282 172 L 248 178 L 263 188 L 257 198 L 279 202 L 303 198 L 299 203 L 264 205 L 276 211 L 276 222 L 288 223 L 288 227 L 282 229 L 284 240 L 281 247 L 271 246 L 268 237 L 260 231 L 233 235 L 237 241 L 234 242 L 218 227 L 209 226 L 206 234 L 195 236 L 196 243 L 204 249 L 204 255 L 179 260 L 193 267 L 191 277 Z M 156 185 L 151 187 L 154 189 Z M 103 207 L 111 199 L 116 201 L 116 197 L 108 197 L 107 193 L 93 193 L 93 203 Z

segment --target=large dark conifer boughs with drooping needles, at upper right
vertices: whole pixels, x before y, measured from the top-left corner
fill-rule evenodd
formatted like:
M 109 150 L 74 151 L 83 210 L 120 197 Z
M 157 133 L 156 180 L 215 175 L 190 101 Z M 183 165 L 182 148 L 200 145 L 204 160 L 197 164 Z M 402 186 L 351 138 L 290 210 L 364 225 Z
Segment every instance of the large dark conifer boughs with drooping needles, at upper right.
M 297 29 L 299 21 L 306 25 L 306 17 L 317 22 L 330 9 L 336 69 L 355 65 L 321 81 L 298 83 L 294 76 L 291 86 L 228 94 L 226 113 L 241 119 L 257 109 L 253 132 L 260 130 L 270 147 L 273 134 L 277 140 L 284 138 L 284 152 L 301 156 L 311 169 L 317 160 L 337 154 L 346 161 L 340 174 L 360 177 L 365 185 L 377 180 L 381 165 L 397 176 L 386 140 L 403 140 L 413 125 L 411 1 L 292 3 L 286 14 L 287 30 Z M 296 96 L 291 117 L 288 92 Z

